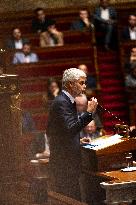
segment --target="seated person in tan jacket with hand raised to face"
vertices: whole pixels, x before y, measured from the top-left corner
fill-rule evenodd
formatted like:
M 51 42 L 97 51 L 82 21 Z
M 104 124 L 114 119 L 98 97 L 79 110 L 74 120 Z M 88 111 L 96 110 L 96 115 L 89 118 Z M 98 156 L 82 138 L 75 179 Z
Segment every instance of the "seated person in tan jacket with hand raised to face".
M 54 20 L 50 20 L 47 31 L 40 34 L 40 47 L 63 46 L 63 33 L 58 31 Z

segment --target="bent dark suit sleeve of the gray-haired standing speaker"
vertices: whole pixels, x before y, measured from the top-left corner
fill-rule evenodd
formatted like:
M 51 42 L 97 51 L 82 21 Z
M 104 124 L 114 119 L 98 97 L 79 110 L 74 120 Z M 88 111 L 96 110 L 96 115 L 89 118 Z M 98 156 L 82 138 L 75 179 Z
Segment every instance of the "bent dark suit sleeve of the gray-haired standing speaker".
M 74 136 L 78 134 L 90 121 L 92 121 L 91 113 L 84 113 L 79 119 L 75 117 L 75 113 L 68 103 L 59 102 L 55 105 L 57 121 L 67 134 Z

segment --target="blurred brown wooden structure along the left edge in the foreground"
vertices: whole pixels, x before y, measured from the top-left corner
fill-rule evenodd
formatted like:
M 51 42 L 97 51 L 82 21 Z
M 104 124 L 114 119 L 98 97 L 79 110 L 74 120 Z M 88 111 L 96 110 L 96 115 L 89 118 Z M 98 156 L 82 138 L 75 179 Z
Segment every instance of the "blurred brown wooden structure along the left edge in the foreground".
M 28 184 L 22 171 L 21 111 L 17 75 L 0 75 L 0 204 L 27 205 Z

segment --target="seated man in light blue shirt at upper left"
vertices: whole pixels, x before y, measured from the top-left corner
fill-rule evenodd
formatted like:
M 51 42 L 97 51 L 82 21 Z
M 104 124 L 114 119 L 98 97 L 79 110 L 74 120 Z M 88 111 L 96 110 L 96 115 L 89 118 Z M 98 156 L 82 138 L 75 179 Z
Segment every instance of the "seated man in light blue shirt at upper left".
M 14 54 L 13 64 L 36 62 L 38 62 L 38 56 L 37 54 L 31 52 L 31 45 L 29 43 L 25 43 L 23 45 L 22 51 L 16 52 Z

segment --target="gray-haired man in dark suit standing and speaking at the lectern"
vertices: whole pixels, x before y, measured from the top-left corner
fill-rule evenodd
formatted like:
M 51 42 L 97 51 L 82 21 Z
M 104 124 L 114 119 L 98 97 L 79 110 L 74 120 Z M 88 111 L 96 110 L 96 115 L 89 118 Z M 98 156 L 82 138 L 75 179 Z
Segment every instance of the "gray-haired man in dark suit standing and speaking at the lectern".
M 77 68 L 65 70 L 63 90 L 51 105 L 47 126 L 51 189 L 77 200 L 80 200 L 80 131 L 92 120 L 92 112 L 97 107 L 97 100 L 93 98 L 87 112 L 78 118 L 75 97 L 85 91 L 85 81 L 83 71 Z

